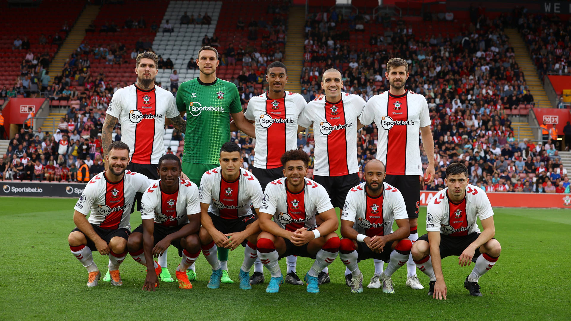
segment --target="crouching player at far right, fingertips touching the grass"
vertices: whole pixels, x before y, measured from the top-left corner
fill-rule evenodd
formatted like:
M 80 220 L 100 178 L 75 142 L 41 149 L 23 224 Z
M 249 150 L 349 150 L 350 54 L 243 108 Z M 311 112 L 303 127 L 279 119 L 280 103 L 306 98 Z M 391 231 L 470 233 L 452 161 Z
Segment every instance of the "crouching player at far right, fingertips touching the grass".
M 484 191 L 469 184 L 468 168 L 463 163 L 449 164 L 444 182 L 447 187 L 428 203 L 428 233 L 412 246 L 412 257 L 430 279 L 428 295 L 440 300 L 447 295 L 441 259 L 460 256 L 461 267 L 475 262 L 464 287 L 470 295 L 482 296 L 478 280 L 496 264 L 501 252 L 500 242 L 493 238 L 496 229 L 492 205 Z M 476 224 L 477 218 L 483 232 Z

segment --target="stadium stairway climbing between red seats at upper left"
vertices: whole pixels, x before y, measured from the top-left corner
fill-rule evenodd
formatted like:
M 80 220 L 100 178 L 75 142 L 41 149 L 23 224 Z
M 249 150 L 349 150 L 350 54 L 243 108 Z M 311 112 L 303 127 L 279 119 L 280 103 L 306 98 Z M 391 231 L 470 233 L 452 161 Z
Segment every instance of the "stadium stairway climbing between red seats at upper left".
M 87 5 L 83 12 L 71 28 L 69 35 L 59 48 L 58 53 L 55 55 L 54 60 L 51 61 L 49 71 L 51 75 L 50 85 L 54 82 L 56 75 L 61 75 L 63 65 L 67 62 L 69 55 L 72 54 L 85 38 L 85 29 L 89 26 L 91 21 L 95 20 L 99 13 L 99 6 Z

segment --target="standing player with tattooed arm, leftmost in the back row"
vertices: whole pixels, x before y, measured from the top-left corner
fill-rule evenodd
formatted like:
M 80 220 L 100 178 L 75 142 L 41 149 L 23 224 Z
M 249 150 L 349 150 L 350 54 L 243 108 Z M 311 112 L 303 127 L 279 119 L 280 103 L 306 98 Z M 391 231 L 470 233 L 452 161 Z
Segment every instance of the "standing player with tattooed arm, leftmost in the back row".
M 126 143 L 131 153 L 127 170 L 146 175 L 151 179 L 159 179 L 156 174 L 159 158 L 164 155 L 163 131 L 165 120 L 169 119 L 176 130 L 184 133 L 186 121 L 176 110 L 172 94 L 155 85 L 158 58 L 154 53 L 147 52 L 137 55 L 135 74 L 137 83 L 123 87 L 113 94 L 107 108 L 107 115 L 101 130 L 103 158 L 107 155 L 111 134 L 117 123 L 121 124 L 121 141 Z M 107 163 L 105 163 L 107 168 Z M 140 210 L 140 198 L 137 210 Z M 163 266 L 161 278 L 164 282 L 172 282 L 167 269 L 166 252 L 159 258 Z M 107 280 L 107 275 L 103 280 Z

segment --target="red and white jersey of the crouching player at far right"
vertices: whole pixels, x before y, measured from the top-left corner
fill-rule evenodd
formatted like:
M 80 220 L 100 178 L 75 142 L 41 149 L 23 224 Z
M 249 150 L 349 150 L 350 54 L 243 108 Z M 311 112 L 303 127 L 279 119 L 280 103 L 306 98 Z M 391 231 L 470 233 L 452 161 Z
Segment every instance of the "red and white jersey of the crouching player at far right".
M 448 187 L 434 195 L 427 207 L 427 231 L 440 231 L 448 236 L 464 236 L 479 232 L 476 219 L 494 215 L 488 195 L 479 187 L 468 184 L 460 203 L 448 198 Z

